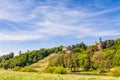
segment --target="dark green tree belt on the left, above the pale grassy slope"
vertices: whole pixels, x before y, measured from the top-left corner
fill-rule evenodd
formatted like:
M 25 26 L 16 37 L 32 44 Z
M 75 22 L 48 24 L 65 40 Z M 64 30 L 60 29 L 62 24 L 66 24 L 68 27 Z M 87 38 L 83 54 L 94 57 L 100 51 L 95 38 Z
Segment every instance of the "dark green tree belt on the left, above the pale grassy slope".
M 58 53 L 61 51 L 62 46 L 55 47 L 51 49 L 40 49 L 40 50 L 33 50 L 28 51 L 26 53 L 20 53 L 18 56 L 11 57 L 11 53 L 7 55 L 7 58 L 5 56 L 2 56 L 2 61 L 0 63 L 0 67 L 3 67 L 5 69 L 7 68 L 14 68 L 16 66 L 24 67 L 31 65 L 40 59 L 43 59 L 44 57 L 50 55 L 51 53 Z M 3 61 L 4 60 L 4 61 Z

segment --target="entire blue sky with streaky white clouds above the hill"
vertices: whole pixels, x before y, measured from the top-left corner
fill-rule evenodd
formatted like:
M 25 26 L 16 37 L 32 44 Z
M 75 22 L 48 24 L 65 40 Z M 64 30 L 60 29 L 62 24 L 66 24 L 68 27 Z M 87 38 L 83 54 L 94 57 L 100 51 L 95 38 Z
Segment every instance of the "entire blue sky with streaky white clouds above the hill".
M 120 0 L 0 0 L 0 55 L 120 37 Z

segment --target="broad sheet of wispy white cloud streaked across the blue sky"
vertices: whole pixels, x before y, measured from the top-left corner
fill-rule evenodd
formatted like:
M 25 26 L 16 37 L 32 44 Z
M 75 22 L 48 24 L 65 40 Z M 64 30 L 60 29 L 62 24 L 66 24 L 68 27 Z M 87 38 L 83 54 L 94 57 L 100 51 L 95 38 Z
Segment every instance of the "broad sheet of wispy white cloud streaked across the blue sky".
M 16 31 L 8 29 L 7 32 L 0 32 L 0 41 L 25 41 L 55 36 L 87 37 L 120 35 L 118 28 L 104 28 L 113 21 L 118 23 L 119 18 L 117 18 L 117 21 L 116 18 L 109 20 L 104 15 L 120 11 L 120 7 L 96 11 L 94 9 L 86 9 L 82 6 L 81 9 L 70 9 L 66 5 L 67 1 L 60 0 L 46 0 L 38 4 L 33 0 L 1 1 L 0 20 L 16 23 L 14 25 Z M 118 27 L 120 25 L 116 26 L 116 24 L 112 23 L 111 26 Z M 22 28 L 18 29 L 18 27 Z M 9 26 L 9 28 L 12 27 Z

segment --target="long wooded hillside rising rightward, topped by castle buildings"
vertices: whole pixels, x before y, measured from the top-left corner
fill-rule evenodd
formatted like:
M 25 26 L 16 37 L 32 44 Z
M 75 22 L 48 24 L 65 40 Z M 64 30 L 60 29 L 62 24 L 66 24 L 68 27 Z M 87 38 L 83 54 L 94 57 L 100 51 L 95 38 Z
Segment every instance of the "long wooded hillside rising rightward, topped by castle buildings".
M 25 66 L 46 69 L 62 66 L 75 72 L 94 70 L 109 72 L 112 68 L 120 66 L 120 38 L 105 41 L 100 38 L 99 42 L 90 46 L 81 42 L 51 49 L 42 48 L 14 57 L 12 53 L 1 56 L 0 59 L 0 67 L 5 69 Z

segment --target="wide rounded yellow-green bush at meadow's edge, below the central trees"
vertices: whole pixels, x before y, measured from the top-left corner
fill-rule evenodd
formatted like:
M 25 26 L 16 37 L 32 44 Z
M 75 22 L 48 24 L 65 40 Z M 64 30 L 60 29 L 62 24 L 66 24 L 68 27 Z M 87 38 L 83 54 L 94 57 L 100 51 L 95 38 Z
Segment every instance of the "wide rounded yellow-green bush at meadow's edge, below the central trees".
M 48 67 L 43 72 L 55 73 L 55 74 L 66 74 L 68 73 L 63 67 Z

